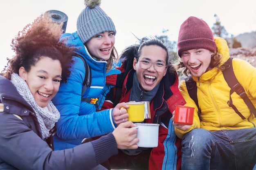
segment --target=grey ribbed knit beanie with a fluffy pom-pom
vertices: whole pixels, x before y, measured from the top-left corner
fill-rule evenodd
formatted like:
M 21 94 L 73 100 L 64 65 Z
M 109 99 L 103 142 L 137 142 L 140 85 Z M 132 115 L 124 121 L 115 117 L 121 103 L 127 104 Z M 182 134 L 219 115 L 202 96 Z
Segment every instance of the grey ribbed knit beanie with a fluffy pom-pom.
M 99 33 L 117 31 L 111 18 L 99 7 L 101 0 L 85 0 L 85 9 L 80 13 L 76 29 L 83 44 Z

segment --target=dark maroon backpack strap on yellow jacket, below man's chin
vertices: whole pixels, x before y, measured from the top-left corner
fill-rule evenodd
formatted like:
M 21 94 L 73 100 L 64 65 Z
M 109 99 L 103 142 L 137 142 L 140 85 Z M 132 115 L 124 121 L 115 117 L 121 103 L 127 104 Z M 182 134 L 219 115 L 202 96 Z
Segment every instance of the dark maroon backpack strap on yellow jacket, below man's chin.
M 198 88 L 196 86 L 196 82 L 192 79 L 191 75 L 189 75 L 189 77 L 185 79 L 185 82 L 186 82 L 186 88 L 189 92 L 189 96 L 191 97 L 191 99 L 193 99 L 196 106 L 198 106 L 198 116 L 201 121 L 201 118 L 200 118 L 201 109 L 198 105 L 198 96 L 197 96 Z

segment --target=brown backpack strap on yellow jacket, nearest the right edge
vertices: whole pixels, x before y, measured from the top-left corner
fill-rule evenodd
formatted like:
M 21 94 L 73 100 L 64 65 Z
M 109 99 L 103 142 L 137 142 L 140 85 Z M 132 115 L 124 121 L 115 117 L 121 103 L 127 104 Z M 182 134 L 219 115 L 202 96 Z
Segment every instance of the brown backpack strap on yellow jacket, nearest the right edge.
M 236 106 L 234 106 L 232 99 L 231 99 L 231 94 L 236 92 L 245 102 L 245 104 L 247 105 L 247 107 L 251 110 L 251 112 L 254 114 L 254 116 L 256 117 L 256 109 L 254 107 L 254 105 L 252 104 L 251 100 L 248 98 L 248 96 L 245 93 L 245 89 L 243 88 L 243 86 L 238 82 L 235 74 L 234 74 L 234 70 L 233 70 L 233 66 L 232 66 L 232 60 L 233 58 L 230 57 L 227 62 L 225 62 L 225 64 L 223 64 L 223 66 L 225 66 L 225 70 L 222 71 L 224 78 L 227 82 L 227 84 L 229 85 L 229 87 L 231 88 L 230 93 L 229 93 L 229 101 L 227 101 L 227 104 L 229 105 L 229 107 L 233 108 L 235 110 L 235 112 L 242 118 L 245 119 L 245 117 L 238 111 L 238 109 L 236 108 Z

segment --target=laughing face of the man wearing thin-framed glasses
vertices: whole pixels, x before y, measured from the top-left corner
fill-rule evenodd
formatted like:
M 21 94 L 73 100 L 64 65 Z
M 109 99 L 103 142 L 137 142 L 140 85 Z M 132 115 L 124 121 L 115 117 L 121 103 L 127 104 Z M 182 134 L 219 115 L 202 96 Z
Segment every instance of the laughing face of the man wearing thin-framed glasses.
M 151 91 L 166 74 L 167 67 L 163 71 L 157 72 L 155 70 L 156 64 L 163 64 L 166 66 L 166 51 L 157 45 L 143 46 L 139 61 L 136 58 L 133 60 L 133 68 L 136 71 L 139 85 L 144 91 Z M 140 66 L 140 61 L 154 62 L 148 69 L 143 69 Z

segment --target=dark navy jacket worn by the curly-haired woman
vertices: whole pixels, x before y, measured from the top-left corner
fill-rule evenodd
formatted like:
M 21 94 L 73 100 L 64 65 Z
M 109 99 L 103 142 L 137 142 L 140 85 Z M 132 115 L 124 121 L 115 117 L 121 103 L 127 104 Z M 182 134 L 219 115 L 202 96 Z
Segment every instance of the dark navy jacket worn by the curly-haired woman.
M 41 138 L 33 109 L 2 76 L 0 100 L 4 104 L 0 112 L 0 170 L 90 170 L 117 154 L 112 133 L 72 149 L 53 151 Z

